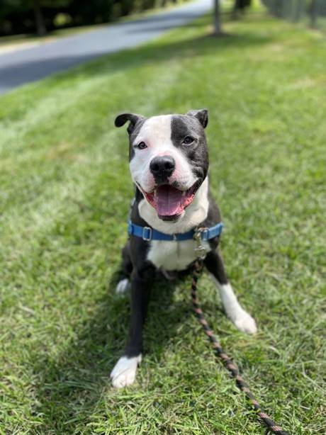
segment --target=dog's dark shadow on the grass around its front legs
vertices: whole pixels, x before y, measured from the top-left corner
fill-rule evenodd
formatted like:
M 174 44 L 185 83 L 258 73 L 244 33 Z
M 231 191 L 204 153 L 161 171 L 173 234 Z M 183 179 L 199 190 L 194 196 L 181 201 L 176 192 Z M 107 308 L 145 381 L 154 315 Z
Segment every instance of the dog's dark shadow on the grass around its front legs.
M 174 303 L 178 283 L 157 277 L 152 290 L 144 354 L 155 362 L 164 357 L 169 341 L 178 336 L 179 325 L 192 315 L 190 297 Z M 35 357 L 34 371 L 39 379 L 35 414 L 42 415 L 40 433 L 72 434 L 77 424 L 86 427 L 101 397 L 112 388 L 109 373 L 123 353 L 130 319 L 129 295 L 117 296 L 115 287 L 116 273 L 105 295 L 96 301 L 96 312 L 62 354 L 39 361 Z M 129 393 L 132 391 L 125 392 Z

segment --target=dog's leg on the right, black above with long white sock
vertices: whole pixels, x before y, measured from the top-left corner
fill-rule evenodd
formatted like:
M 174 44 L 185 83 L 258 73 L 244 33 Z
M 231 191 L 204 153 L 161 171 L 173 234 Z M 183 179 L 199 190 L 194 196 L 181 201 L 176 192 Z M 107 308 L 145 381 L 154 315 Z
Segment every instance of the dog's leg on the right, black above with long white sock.
M 220 253 L 217 251 L 208 252 L 205 265 L 218 287 L 227 317 L 230 318 L 240 331 L 247 332 L 247 334 L 255 334 L 257 332 L 256 322 L 238 302 L 237 296 L 227 280 L 223 259 Z

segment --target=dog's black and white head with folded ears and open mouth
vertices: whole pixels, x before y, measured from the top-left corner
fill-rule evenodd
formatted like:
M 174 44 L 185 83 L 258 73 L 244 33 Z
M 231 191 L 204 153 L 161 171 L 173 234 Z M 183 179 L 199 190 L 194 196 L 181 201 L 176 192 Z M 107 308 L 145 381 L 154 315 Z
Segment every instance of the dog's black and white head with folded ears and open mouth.
M 208 112 L 151 118 L 123 113 L 116 127 L 127 121 L 133 181 L 160 219 L 179 220 L 207 175 Z

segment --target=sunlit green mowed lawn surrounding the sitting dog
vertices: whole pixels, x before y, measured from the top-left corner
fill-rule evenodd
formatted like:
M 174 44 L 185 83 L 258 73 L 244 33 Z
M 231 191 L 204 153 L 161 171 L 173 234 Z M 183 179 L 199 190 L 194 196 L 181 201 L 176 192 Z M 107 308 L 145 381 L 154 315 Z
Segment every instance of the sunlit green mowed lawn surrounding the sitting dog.
M 157 283 L 135 385 L 114 293 L 133 186 L 115 115 L 206 107 L 222 249 L 256 337 L 208 276 L 210 324 L 291 434 L 325 434 L 326 40 L 263 15 L 210 17 L 0 98 L 1 434 L 265 434 L 191 313 Z M 324 276 L 325 277 L 325 276 Z

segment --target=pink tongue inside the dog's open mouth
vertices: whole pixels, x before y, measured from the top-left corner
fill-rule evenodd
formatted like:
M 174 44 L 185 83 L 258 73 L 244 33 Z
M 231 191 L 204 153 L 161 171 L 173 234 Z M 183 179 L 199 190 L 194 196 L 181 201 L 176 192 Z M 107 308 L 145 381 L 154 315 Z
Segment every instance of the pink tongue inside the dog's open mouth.
M 155 208 L 160 216 L 173 216 L 182 211 L 182 192 L 172 186 L 159 186 L 155 196 Z

